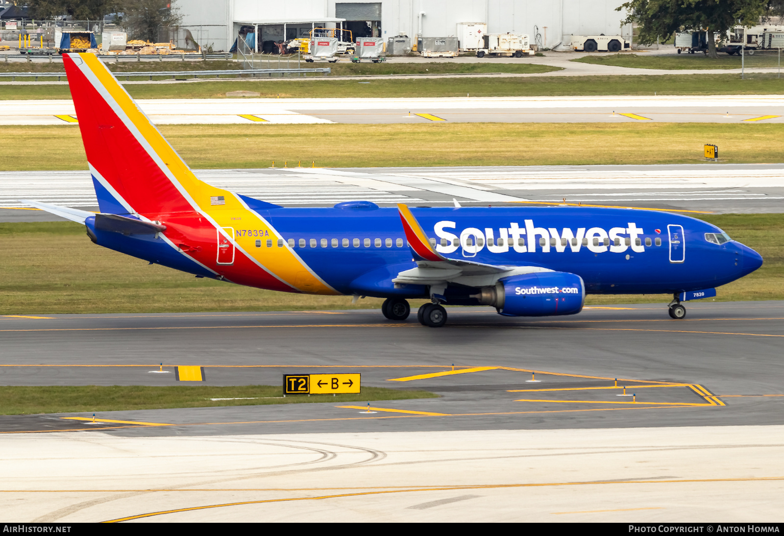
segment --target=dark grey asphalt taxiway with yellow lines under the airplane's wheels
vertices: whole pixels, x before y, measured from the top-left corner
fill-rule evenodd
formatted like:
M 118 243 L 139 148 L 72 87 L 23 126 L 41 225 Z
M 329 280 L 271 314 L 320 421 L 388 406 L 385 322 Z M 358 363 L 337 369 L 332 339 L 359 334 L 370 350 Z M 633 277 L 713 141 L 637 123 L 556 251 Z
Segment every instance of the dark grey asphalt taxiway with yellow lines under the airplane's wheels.
M 546 319 L 456 308 L 438 329 L 413 317 L 385 321 L 375 310 L 0 317 L 2 385 L 173 386 L 173 367 L 201 365 L 206 385 L 281 385 L 285 373 L 360 372 L 363 386 L 441 395 L 374 401 L 374 414 L 361 413 L 366 403 L 100 413 L 99 421 L 128 421 L 111 427 L 64 426 L 62 417 L 71 415 L 9 415 L 0 418 L 0 431 L 96 427 L 120 436 L 209 436 L 784 424 L 784 303 L 686 305 L 684 321 L 671 320 L 664 304 Z M 151 372 L 161 362 L 170 372 Z M 452 364 L 456 371 L 489 369 L 390 381 L 451 372 Z M 528 382 L 532 372 L 539 382 Z M 616 396 L 622 386 L 637 395 L 633 403 Z M 586 389 L 597 387 L 604 389 Z

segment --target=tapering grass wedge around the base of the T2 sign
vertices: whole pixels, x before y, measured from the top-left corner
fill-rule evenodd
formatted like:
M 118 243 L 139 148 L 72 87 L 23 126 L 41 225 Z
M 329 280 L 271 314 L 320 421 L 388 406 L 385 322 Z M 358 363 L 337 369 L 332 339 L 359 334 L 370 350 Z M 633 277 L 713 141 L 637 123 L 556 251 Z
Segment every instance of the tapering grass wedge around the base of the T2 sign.
M 209 400 L 210 398 L 257 400 Z M 289 395 L 281 386 L 2 386 L 0 415 L 130 411 L 169 407 L 256 406 L 265 404 L 350 403 L 370 400 L 437 398 L 427 391 L 363 387 L 360 394 Z M 100 418 L 100 417 L 98 417 Z

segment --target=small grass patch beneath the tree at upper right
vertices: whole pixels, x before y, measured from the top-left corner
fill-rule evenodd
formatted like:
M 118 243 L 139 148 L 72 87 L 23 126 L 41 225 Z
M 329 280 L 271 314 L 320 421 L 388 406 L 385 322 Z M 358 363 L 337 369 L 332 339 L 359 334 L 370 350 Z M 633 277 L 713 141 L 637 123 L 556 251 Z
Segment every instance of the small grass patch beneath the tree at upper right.
M 746 68 L 777 67 L 778 53 L 755 53 L 743 59 Z M 593 65 L 612 65 L 614 67 L 633 67 L 637 69 L 740 69 L 740 56 L 720 53 L 718 59 L 705 54 L 678 54 L 677 56 L 648 56 L 637 54 L 610 54 L 607 56 L 583 56 L 575 58 L 578 63 Z

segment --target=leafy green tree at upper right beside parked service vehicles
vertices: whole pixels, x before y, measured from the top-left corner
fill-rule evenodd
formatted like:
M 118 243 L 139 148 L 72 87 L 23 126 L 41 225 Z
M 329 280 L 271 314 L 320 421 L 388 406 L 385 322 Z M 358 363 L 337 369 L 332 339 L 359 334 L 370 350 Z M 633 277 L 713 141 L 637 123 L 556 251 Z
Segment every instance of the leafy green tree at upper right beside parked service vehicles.
M 718 58 L 716 37 L 727 38 L 731 27 L 756 26 L 768 15 L 767 0 L 631 0 L 622 24 L 637 23 L 639 42 L 668 39 L 676 31 L 707 31 L 708 56 Z

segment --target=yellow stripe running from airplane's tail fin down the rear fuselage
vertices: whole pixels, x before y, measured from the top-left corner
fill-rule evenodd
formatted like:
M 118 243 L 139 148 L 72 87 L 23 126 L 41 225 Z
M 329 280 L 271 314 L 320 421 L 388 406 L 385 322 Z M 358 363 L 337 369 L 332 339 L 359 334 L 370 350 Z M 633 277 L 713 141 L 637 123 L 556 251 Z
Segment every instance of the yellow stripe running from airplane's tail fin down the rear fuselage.
M 152 125 L 150 120 L 136 106 L 136 103 L 133 102 L 129 94 L 125 92 L 125 89 L 107 71 L 103 63 L 96 58 L 95 54 L 81 53 L 79 56 L 84 60 L 90 71 L 95 74 L 101 85 L 109 92 L 109 95 L 122 108 L 147 143 L 150 144 L 158 158 L 169 168 L 169 172 L 180 183 L 183 190 L 198 205 L 198 209 L 202 213 L 212 218 L 219 227 L 263 230 L 275 242 L 278 241 L 280 235 L 274 230 L 273 226 L 256 212 L 245 208 L 245 205 L 242 205 L 238 197 L 228 190 L 221 190 L 196 178 L 191 168 L 180 158 L 179 154 L 176 154 L 176 151 L 172 149 L 161 132 L 158 132 L 158 129 Z M 210 205 L 210 197 L 214 196 L 223 196 L 225 205 L 218 207 Z M 277 244 L 274 244 L 273 248 L 256 248 L 255 242 L 257 238 L 254 236 L 237 237 L 236 234 L 234 237 L 231 237 L 238 248 L 241 248 L 246 255 L 255 259 L 257 263 L 282 281 L 285 281 L 285 283 L 291 285 L 292 288 L 308 294 L 339 295 L 339 292 L 336 292 L 321 281 L 321 278 L 317 277 L 313 270 L 310 270 L 305 263 L 301 262 L 288 245 L 283 248 L 278 248 Z

